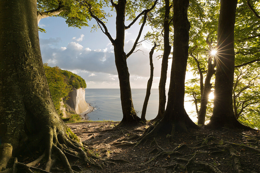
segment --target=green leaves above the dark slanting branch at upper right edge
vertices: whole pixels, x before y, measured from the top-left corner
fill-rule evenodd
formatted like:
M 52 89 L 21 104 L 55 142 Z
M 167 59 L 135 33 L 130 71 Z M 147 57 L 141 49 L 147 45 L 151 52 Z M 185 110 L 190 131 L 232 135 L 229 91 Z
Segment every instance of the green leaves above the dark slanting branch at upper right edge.
M 260 2 L 250 1 L 260 11 Z M 258 12 L 259 14 L 259 12 Z M 240 65 L 260 57 L 260 19 L 248 8 L 245 1 L 238 1 L 235 24 L 235 64 Z

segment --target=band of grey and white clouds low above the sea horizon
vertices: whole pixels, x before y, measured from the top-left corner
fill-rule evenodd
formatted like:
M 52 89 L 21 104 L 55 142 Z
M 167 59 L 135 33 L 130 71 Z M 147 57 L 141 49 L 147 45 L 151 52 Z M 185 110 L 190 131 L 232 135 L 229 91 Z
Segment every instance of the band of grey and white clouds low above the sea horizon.
M 50 66 L 59 66 L 61 69 L 69 70 L 85 79 L 88 88 L 119 88 L 118 74 L 115 66 L 114 48 L 110 43 L 105 49 L 91 50 L 83 45 L 70 42 L 67 46 L 56 47 L 60 39 L 40 40 L 43 62 Z M 133 46 L 134 40 L 125 42 L 125 52 L 128 53 Z M 149 46 L 149 45 L 148 45 Z M 152 45 L 151 45 L 152 47 Z M 138 51 L 127 58 L 132 88 L 146 88 L 150 76 L 149 52 L 151 47 L 140 46 Z M 154 80 L 153 88 L 159 85 L 161 59 L 157 59 L 162 52 L 154 52 Z M 171 59 L 169 59 L 169 69 Z M 170 70 L 169 70 L 170 71 Z M 170 72 L 167 77 L 170 77 Z M 168 82 L 168 81 L 167 81 Z M 99 86 L 100 85 L 100 86 Z

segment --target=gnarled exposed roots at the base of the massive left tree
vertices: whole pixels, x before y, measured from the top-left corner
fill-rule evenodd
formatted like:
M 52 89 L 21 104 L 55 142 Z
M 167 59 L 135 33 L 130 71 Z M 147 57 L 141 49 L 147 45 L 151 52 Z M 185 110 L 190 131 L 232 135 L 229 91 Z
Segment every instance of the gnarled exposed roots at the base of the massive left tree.
M 78 142 L 76 142 L 77 140 Z M 100 168 L 99 165 L 95 163 L 94 159 L 100 159 L 100 157 L 94 156 L 88 148 L 81 144 L 80 139 L 77 138 L 69 129 L 67 133 L 60 132 L 56 128 L 49 128 L 48 136 L 46 138 L 45 151 L 43 154 L 35 159 L 34 161 L 23 164 L 15 162 L 13 168 L 6 169 L 6 172 L 19 172 L 19 170 L 25 170 L 25 172 L 50 172 L 53 169 L 55 163 L 63 164 L 64 170 L 68 173 L 74 173 L 68 158 L 75 160 L 81 159 L 84 164 L 94 165 Z M 11 145 L 1 145 L 2 159 L 1 159 L 1 169 L 5 168 L 7 161 L 10 159 L 10 154 L 12 153 Z M 45 160 L 43 169 L 35 168 L 36 164 L 40 164 Z M 76 168 L 76 167 L 74 167 Z

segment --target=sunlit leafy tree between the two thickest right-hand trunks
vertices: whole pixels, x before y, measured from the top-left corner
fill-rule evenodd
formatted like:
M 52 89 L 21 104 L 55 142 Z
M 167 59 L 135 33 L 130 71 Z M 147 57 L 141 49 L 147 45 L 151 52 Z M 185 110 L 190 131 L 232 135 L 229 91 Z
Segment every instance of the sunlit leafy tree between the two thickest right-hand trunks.
M 205 123 L 206 113 L 210 113 L 209 94 L 212 92 L 212 76 L 215 73 L 216 61 L 210 52 L 216 45 L 219 1 L 193 2 L 190 7 L 189 19 L 190 48 L 189 70 L 198 74 L 186 83 L 186 94 L 193 97 L 198 115 L 198 124 Z

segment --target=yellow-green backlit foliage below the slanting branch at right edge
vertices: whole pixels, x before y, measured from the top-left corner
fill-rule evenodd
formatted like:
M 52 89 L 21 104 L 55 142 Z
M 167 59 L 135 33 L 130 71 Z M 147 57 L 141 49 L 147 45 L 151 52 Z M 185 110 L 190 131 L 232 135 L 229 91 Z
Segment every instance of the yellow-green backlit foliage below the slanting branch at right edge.
M 235 69 L 233 99 L 234 112 L 239 121 L 260 129 L 260 68 L 250 64 Z

